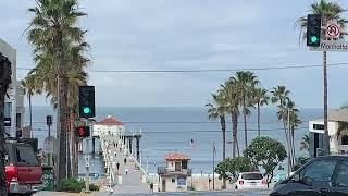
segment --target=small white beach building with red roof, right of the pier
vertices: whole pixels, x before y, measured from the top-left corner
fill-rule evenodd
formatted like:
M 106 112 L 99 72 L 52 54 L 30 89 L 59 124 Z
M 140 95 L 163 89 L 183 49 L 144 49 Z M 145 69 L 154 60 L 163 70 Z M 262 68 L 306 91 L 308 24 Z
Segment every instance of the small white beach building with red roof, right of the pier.
M 166 167 L 158 168 L 160 192 L 187 191 L 187 177 L 192 175 L 188 167 L 190 158 L 182 154 L 169 154 L 164 157 Z

